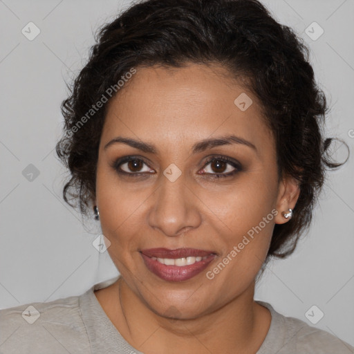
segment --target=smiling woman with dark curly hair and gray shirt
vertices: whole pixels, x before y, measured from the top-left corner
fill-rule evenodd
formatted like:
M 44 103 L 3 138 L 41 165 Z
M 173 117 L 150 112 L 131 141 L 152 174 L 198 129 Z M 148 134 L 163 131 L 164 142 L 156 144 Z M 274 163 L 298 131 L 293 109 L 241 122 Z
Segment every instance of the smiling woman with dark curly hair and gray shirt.
M 57 154 L 65 201 L 93 208 L 120 277 L 2 310 L 0 350 L 353 353 L 253 299 L 339 167 L 307 55 L 254 0 L 143 1 L 104 26 Z

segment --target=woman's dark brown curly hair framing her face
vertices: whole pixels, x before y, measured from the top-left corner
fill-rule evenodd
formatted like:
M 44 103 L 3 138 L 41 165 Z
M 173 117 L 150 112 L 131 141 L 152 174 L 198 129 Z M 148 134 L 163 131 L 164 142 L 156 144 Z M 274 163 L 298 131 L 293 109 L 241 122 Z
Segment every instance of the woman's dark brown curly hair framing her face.
M 179 68 L 190 63 L 216 63 L 227 68 L 231 77 L 242 80 L 259 99 L 276 142 L 279 177 L 290 175 L 299 182 L 294 216 L 287 223 L 274 225 L 268 251 L 268 256 L 287 257 L 310 225 L 326 167 L 333 169 L 344 163 L 330 160 L 328 147 L 333 138 L 324 139 L 322 127 L 328 106 L 315 82 L 308 54 L 302 39 L 275 21 L 257 0 L 134 3 L 97 33 L 88 63 L 62 102 L 64 136 L 56 151 L 71 172 L 64 200 L 72 207 L 79 205 L 86 216 L 93 207 L 107 104 L 91 119 L 87 113 L 106 97 L 107 88 L 115 87 L 118 92 L 117 82 L 138 66 Z M 85 115 L 84 127 L 79 127 Z M 78 203 L 71 204 L 68 196 Z

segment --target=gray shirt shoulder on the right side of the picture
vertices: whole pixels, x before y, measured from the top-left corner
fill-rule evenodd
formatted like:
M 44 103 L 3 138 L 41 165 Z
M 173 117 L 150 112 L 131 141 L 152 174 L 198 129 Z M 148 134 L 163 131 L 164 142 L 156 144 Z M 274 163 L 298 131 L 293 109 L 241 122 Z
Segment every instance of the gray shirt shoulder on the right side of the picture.
M 268 303 L 257 302 L 268 308 L 272 314 L 270 330 L 265 338 L 266 348 L 272 347 L 272 343 L 276 342 L 278 354 L 354 354 L 353 346 L 326 330 L 310 326 L 301 319 L 281 315 Z M 261 353 L 263 354 L 259 354 Z

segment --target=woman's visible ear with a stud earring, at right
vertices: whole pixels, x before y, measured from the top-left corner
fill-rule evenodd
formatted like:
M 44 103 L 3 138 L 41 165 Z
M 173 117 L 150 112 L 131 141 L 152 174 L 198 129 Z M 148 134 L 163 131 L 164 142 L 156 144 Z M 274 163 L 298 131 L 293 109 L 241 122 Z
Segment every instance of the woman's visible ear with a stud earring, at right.
M 285 176 L 279 183 L 277 196 L 278 214 L 274 218 L 276 224 L 287 223 L 290 219 L 283 217 L 281 212 L 288 212 L 288 209 L 294 209 L 297 199 L 300 195 L 299 181 L 292 176 Z

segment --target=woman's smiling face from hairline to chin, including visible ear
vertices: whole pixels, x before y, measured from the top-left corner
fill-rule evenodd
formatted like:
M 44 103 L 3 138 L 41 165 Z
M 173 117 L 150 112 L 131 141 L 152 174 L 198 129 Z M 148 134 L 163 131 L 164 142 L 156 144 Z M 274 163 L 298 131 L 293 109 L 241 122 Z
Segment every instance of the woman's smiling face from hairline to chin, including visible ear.
M 296 203 L 295 183 L 277 178 L 256 97 L 225 73 L 138 68 L 109 102 L 97 163 L 102 232 L 124 282 L 160 315 L 193 318 L 252 297 L 274 223 Z

